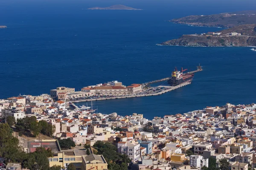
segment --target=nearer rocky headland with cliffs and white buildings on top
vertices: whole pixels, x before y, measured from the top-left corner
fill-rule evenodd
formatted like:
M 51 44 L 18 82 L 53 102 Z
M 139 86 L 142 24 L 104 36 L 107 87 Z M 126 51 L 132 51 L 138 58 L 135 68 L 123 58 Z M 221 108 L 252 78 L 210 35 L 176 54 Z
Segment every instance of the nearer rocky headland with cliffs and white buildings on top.
M 256 24 L 235 26 L 217 32 L 183 35 L 159 45 L 180 46 L 256 46 Z

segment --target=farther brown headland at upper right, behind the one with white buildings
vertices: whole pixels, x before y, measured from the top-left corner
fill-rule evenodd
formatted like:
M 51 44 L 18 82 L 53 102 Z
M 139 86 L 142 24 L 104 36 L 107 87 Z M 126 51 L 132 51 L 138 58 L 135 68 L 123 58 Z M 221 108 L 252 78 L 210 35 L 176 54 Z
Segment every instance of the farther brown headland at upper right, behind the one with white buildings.
M 256 24 L 256 11 L 226 12 L 212 15 L 190 15 L 169 21 L 191 26 L 231 28 L 244 24 Z

